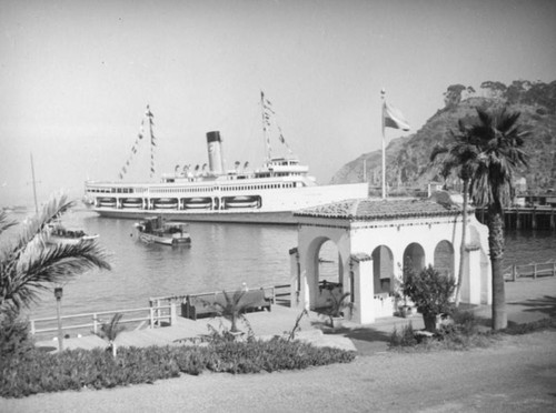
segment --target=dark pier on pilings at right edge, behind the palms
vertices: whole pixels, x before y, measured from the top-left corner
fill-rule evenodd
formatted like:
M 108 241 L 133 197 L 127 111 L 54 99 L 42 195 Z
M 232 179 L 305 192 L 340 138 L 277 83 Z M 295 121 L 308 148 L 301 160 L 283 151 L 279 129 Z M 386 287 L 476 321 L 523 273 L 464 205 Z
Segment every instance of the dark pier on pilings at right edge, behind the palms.
M 487 211 L 477 208 L 476 215 L 486 224 Z M 512 206 L 504 210 L 504 224 L 510 230 L 556 231 L 556 208 L 554 206 Z

